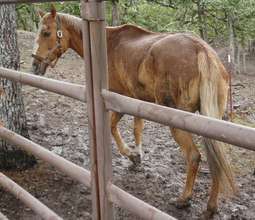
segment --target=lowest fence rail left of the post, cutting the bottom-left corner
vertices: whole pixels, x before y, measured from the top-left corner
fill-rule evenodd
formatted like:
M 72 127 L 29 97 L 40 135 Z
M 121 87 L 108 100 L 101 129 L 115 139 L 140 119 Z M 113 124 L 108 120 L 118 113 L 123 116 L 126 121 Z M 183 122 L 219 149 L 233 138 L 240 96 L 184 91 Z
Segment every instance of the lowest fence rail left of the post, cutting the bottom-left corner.
M 0 173 L 0 185 L 12 193 L 15 197 L 20 199 L 29 208 L 45 220 L 62 220 L 55 212 L 50 210 L 47 206 L 41 203 L 38 199 L 29 194 L 26 190 L 21 188 L 18 184 L 13 182 L 10 178 Z M 2 220 L 1 216 L 0 219 Z

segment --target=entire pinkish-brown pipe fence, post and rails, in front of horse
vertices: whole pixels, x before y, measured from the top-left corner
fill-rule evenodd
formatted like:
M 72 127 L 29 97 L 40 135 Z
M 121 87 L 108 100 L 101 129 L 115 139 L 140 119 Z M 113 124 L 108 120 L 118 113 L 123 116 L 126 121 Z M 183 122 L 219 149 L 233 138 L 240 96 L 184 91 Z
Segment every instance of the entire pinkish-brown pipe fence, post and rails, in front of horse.
M 0 4 L 51 1 L 53 0 L 0 0 Z M 249 150 L 255 150 L 255 129 L 109 92 L 103 1 L 81 0 L 81 16 L 83 19 L 87 90 L 85 86 L 47 79 L 5 68 L 0 68 L 0 76 L 65 95 L 82 102 L 87 101 L 91 147 L 91 173 L 4 127 L 0 127 L 0 137 L 55 166 L 58 170 L 87 187 L 91 187 L 92 217 L 94 220 L 112 220 L 114 218 L 113 203 L 128 209 L 144 219 L 173 220 L 175 219 L 174 217 L 163 213 L 112 184 L 109 110 L 171 125 L 206 137 L 235 144 Z M 24 192 L 23 189 L 15 185 L 15 183 L 10 182 L 7 177 L 1 174 L 0 185 L 4 185 L 5 188 L 12 192 L 12 189 L 17 188 L 22 192 L 16 193 L 17 197 L 21 194 L 26 194 L 31 199 L 31 196 L 27 192 Z M 15 187 L 10 189 L 8 186 Z M 19 198 L 24 199 L 24 197 Z M 31 205 L 26 200 L 22 201 L 29 206 Z M 39 212 L 37 209 L 41 205 L 38 202 L 35 202 L 37 207 L 35 207 L 34 211 L 36 212 Z M 46 210 L 47 208 L 44 207 L 43 209 Z M 47 219 L 47 216 L 45 219 Z

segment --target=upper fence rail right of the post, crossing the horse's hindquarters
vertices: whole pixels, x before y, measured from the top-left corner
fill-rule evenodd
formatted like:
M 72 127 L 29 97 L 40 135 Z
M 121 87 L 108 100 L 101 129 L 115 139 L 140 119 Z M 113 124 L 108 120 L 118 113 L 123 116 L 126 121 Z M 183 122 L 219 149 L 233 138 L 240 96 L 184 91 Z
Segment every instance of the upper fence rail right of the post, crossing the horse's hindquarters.
M 130 114 L 255 151 L 255 128 L 156 105 L 107 90 L 103 90 L 102 95 L 108 110 Z

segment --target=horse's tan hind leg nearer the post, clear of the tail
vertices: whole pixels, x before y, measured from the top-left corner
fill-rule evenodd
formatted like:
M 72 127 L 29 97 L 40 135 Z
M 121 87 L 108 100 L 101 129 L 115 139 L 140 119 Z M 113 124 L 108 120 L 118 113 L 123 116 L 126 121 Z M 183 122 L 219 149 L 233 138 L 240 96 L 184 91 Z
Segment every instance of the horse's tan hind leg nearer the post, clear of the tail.
M 170 129 L 175 141 L 181 146 L 187 164 L 187 179 L 185 188 L 182 195 L 176 202 L 176 206 L 178 208 L 184 208 L 189 206 L 189 200 L 192 196 L 192 190 L 196 179 L 201 155 L 192 140 L 191 133 L 176 128 Z

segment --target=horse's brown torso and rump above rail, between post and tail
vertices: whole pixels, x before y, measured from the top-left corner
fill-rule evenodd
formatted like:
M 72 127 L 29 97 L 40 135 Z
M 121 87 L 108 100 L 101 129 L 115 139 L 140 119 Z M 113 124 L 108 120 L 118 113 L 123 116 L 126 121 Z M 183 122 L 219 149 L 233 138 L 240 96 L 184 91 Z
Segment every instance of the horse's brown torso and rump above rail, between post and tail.
M 191 34 L 153 33 L 128 25 L 120 27 L 112 39 L 108 37 L 108 45 L 111 90 L 198 110 L 198 54 L 204 51 L 218 59 L 206 42 Z

